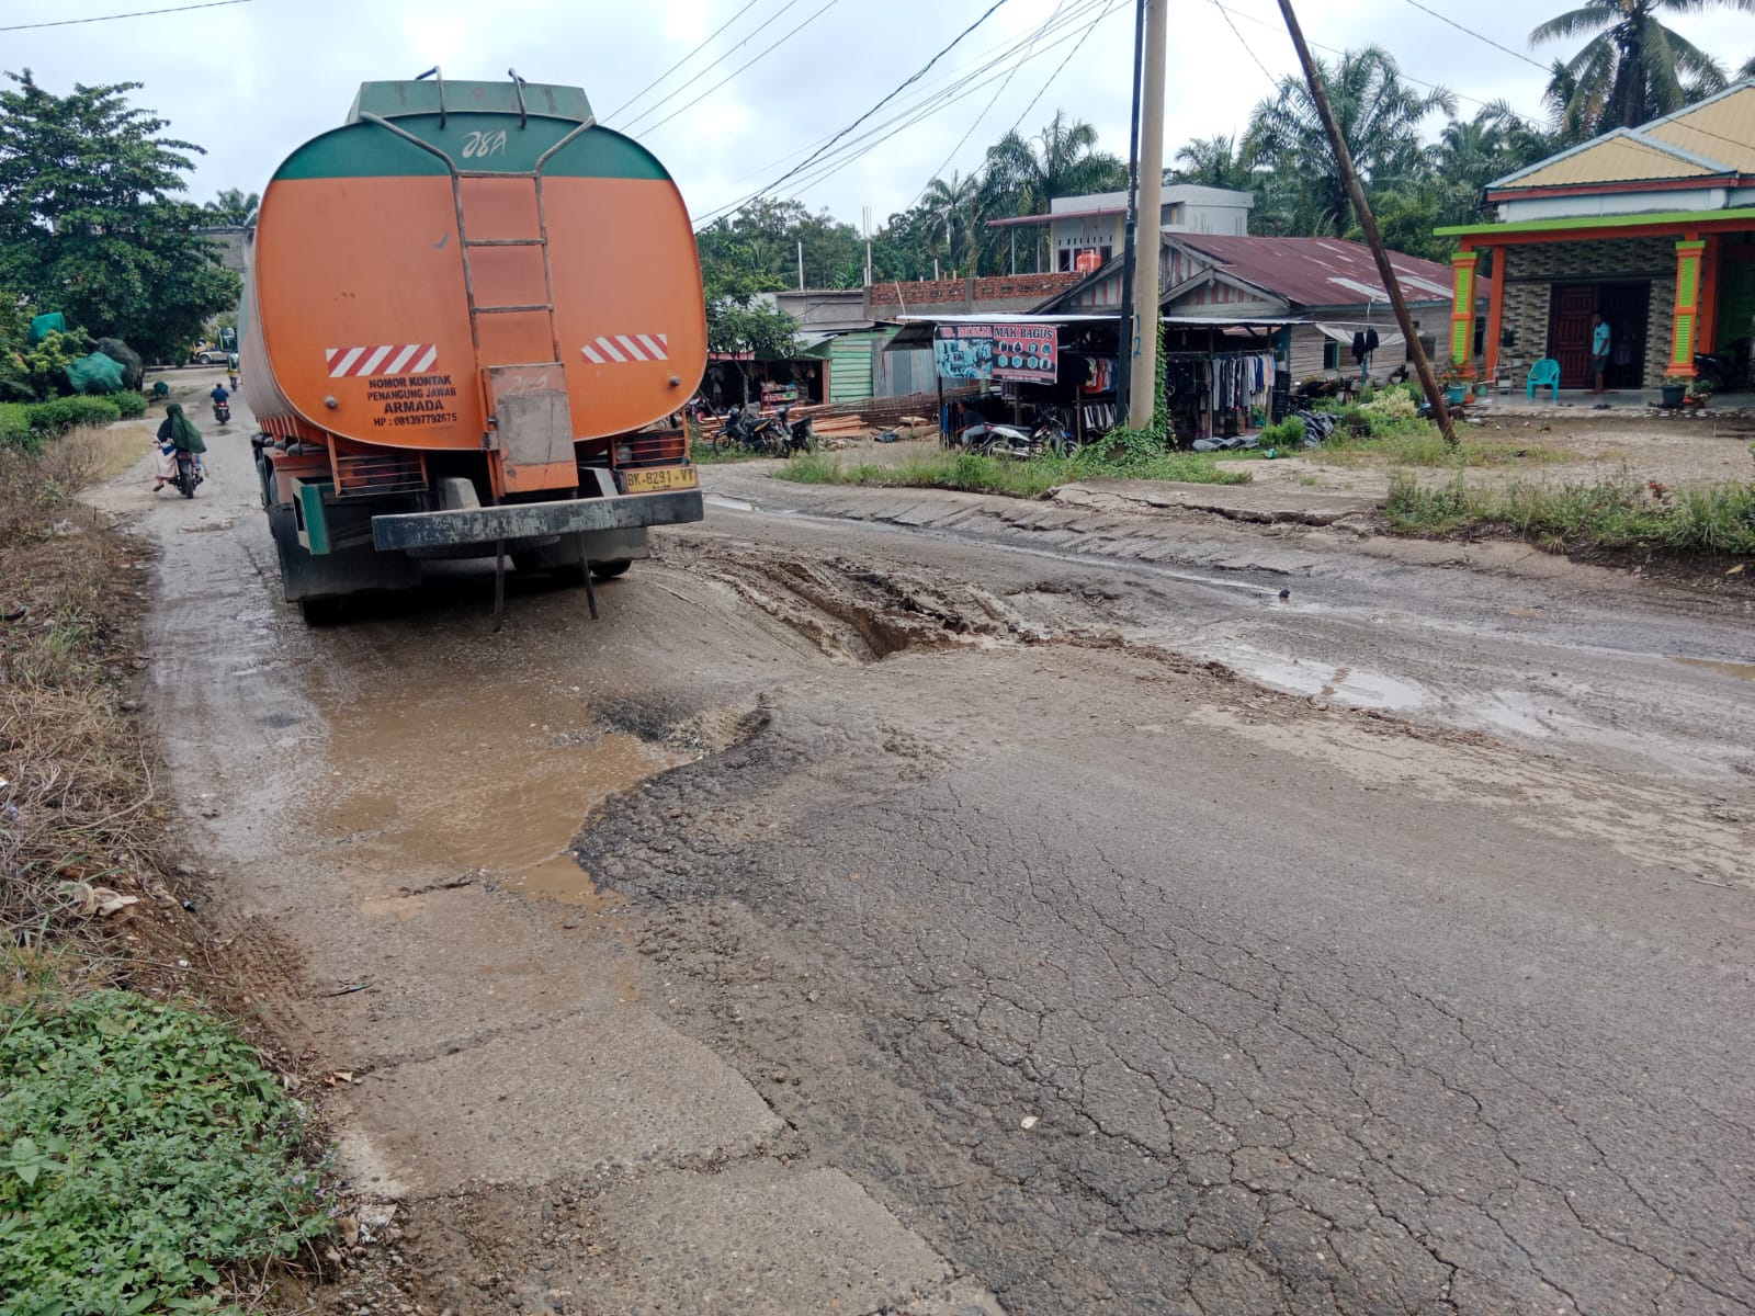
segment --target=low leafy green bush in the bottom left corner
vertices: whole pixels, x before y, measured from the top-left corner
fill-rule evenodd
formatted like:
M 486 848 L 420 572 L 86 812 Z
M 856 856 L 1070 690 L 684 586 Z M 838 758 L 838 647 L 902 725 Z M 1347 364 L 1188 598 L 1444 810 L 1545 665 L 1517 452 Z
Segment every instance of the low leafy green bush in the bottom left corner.
M 54 990 L 11 1014 L 7 1311 L 218 1311 L 221 1267 L 293 1256 L 328 1230 L 298 1109 L 212 1016 L 132 991 Z

